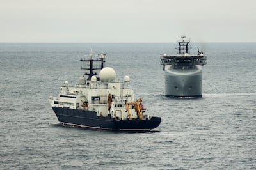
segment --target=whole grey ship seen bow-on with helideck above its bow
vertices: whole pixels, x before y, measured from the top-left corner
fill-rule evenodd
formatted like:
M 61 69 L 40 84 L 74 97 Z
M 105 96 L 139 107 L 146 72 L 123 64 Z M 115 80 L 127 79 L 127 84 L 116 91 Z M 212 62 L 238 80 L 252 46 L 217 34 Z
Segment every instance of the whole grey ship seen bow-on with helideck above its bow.
M 177 54 L 161 54 L 165 77 L 165 95 L 168 97 L 202 97 L 202 66 L 207 56 L 200 52 L 190 54 L 190 40 L 177 40 Z

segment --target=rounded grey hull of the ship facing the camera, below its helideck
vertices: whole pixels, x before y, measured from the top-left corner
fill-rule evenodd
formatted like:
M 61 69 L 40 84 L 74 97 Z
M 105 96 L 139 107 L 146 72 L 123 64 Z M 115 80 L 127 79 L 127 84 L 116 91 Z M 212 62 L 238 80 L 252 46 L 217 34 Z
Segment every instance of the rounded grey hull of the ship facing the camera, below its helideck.
M 193 69 L 165 67 L 165 95 L 170 97 L 202 97 L 202 66 Z

